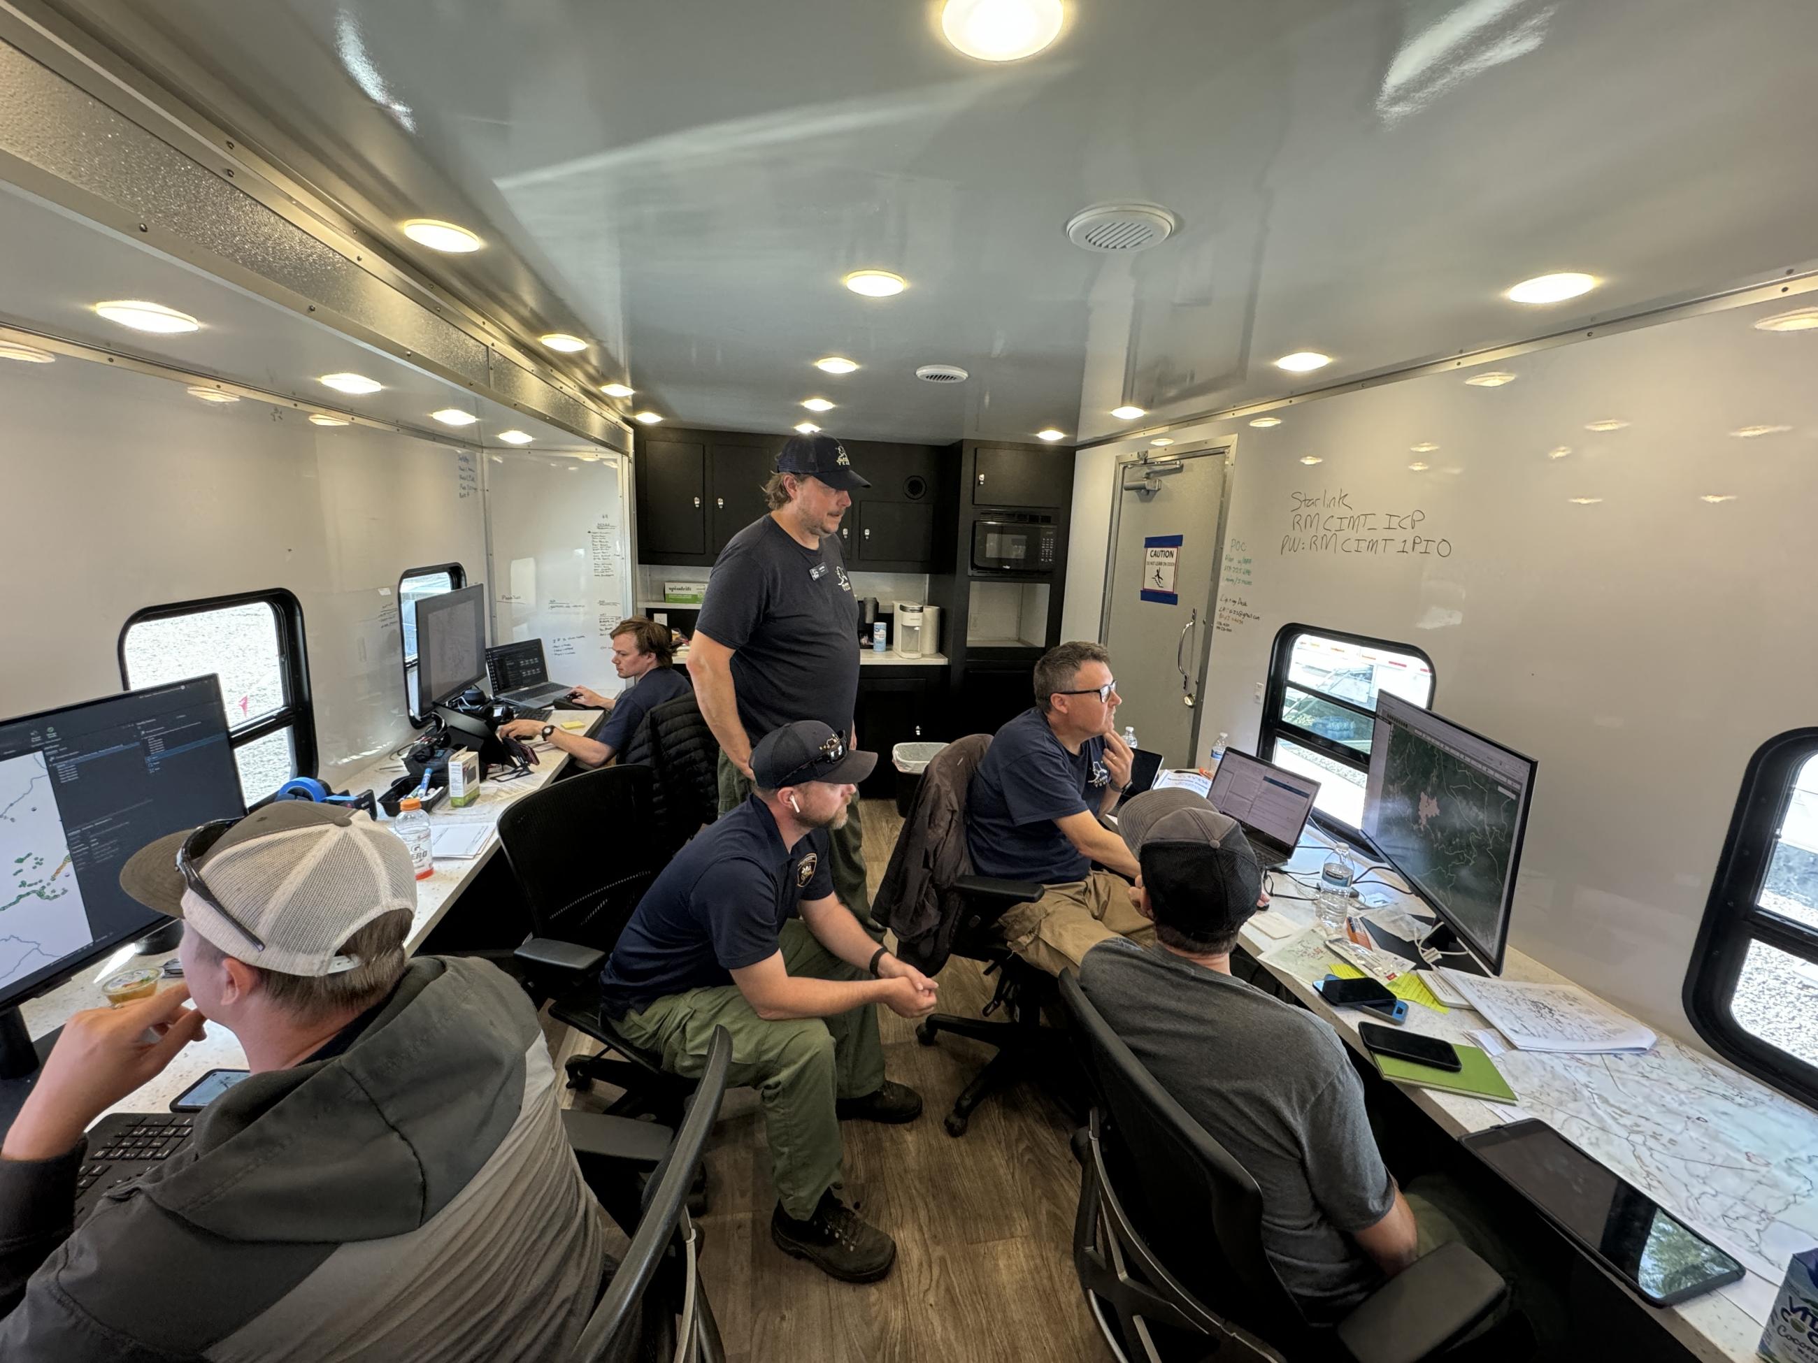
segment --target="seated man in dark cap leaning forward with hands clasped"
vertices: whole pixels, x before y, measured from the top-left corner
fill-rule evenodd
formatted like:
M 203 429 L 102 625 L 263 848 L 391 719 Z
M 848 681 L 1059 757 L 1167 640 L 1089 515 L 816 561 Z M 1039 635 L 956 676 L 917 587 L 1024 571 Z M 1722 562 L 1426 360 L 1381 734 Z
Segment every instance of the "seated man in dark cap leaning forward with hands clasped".
M 605 1016 L 674 1074 L 702 1072 L 714 1027 L 733 1034 L 731 1081 L 764 1101 L 771 1239 L 849 1283 L 884 1278 L 896 1245 L 833 1190 L 840 1121 L 922 1112 L 884 1078 L 871 1005 L 922 1018 L 936 989 L 833 896 L 827 836 L 876 760 L 818 720 L 771 731 L 753 792 L 664 867 L 600 976 Z

